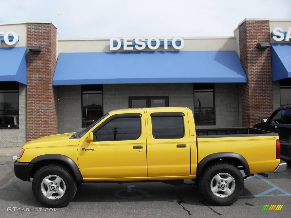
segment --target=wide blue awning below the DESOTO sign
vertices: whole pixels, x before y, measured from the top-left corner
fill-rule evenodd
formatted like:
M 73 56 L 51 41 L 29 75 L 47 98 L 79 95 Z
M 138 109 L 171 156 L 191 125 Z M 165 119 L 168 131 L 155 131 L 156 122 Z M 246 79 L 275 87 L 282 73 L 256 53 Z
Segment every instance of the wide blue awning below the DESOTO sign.
M 235 51 L 60 53 L 53 85 L 245 83 Z

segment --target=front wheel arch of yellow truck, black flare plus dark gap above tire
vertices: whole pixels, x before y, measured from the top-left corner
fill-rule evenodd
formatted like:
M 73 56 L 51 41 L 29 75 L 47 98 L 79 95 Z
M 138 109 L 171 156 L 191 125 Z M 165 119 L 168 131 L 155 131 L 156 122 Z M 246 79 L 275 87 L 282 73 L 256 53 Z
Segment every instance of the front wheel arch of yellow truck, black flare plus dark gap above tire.
M 60 164 L 68 167 L 72 171 L 77 183 L 82 183 L 84 181 L 77 164 L 68 156 L 61 154 L 45 154 L 33 158 L 31 163 L 33 164 L 33 167 L 30 172 L 30 177 L 33 177 L 36 172 L 45 165 Z

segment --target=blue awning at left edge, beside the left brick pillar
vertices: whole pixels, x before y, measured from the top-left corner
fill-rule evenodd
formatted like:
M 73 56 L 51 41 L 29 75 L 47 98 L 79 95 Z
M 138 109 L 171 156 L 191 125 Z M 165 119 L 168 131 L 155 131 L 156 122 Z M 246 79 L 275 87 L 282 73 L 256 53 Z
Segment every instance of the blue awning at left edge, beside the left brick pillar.
M 26 47 L 0 48 L 0 81 L 26 84 Z

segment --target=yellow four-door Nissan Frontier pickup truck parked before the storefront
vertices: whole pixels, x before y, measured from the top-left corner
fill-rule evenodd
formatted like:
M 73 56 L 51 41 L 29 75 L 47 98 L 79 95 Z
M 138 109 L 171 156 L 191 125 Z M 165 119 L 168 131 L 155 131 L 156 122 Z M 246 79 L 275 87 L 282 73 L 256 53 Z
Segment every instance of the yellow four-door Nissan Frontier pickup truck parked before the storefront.
M 25 143 L 14 163 L 16 177 L 33 178 L 33 194 L 47 207 L 67 205 L 83 182 L 184 179 L 198 183 L 208 202 L 226 206 L 241 196 L 244 178 L 285 169 L 277 133 L 197 130 L 192 111 L 178 107 L 110 111 L 83 131 Z

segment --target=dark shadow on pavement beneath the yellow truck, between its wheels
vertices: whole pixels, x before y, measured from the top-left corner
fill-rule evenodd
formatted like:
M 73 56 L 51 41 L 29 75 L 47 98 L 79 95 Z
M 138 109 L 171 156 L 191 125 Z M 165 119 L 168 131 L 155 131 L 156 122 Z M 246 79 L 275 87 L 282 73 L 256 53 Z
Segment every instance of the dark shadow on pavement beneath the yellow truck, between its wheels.
M 202 196 L 193 184 L 173 186 L 164 183 L 83 183 L 73 202 L 186 201 L 201 205 Z

